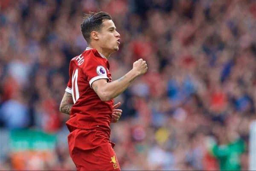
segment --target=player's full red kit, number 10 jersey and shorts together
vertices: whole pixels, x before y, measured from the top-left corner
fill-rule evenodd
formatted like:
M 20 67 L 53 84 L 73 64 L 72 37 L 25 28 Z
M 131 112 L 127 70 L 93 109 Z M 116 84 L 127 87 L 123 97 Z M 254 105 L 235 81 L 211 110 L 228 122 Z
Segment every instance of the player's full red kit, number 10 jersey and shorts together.
M 113 99 L 101 101 L 91 87 L 98 79 L 112 81 L 107 58 L 96 49 L 87 48 L 70 61 L 69 76 L 66 92 L 72 94 L 74 104 L 66 125 L 76 169 L 120 170 L 114 143 L 109 140 Z

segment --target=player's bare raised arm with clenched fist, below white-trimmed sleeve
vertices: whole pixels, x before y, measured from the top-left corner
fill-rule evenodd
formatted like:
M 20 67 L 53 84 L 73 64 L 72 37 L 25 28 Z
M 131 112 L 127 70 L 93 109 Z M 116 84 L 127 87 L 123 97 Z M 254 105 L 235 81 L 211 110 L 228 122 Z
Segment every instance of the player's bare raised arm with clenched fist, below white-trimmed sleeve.
M 106 79 L 99 79 L 92 83 L 92 88 L 102 101 L 109 101 L 124 92 L 134 79 L 147 72 L 147 69 L 146 61 L 139 59 L 134 62 L 132 70 L 118 80 L 108 83 Z

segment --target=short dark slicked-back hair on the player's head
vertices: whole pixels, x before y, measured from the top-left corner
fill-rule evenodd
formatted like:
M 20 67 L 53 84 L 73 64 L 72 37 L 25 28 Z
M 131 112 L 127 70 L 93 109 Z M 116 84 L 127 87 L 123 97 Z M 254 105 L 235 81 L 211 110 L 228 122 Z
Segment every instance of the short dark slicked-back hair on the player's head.
M 81 23 L 81 31 L 87 43 L 90 43 L 90 33 L 92 31 L 100 31 L 102 29 L 103 20 L 112 20 L 112 17 L 110 14 L 102 11 L 84 14 L 84 20 Z

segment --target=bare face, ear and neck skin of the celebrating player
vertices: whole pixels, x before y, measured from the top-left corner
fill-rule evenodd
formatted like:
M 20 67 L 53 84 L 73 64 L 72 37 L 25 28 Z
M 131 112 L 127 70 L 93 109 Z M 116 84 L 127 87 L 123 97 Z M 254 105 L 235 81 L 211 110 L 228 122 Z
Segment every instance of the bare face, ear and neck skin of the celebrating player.
M 111 53 L 118 51 L 120 44 L 120 34 L 116 31 L 116 26 L 112 20 L 103 20 L 102 29 L 99 32 L 91 32 L 89 47 L 97 49 L 106 58 Z

